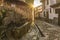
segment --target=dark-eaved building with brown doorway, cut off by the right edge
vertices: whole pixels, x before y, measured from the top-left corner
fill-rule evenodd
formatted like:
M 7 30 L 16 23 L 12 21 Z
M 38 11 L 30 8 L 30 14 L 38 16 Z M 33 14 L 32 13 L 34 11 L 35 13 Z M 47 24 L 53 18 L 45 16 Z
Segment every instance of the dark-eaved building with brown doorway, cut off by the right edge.
M 60 0 L 56 0 L 56 3 L 54 3 L 50 6 L 55 10 L 55 14 L 57 14 L 57 20 L 58 20 L 57 24 L 60 25 Z M 56 20 L 55 20 L 55 22 L 56 22 Z

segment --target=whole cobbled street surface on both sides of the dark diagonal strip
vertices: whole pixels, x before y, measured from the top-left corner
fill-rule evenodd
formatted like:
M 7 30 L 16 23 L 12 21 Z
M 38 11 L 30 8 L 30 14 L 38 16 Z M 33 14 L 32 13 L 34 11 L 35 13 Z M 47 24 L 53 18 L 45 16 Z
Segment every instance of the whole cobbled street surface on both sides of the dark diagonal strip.
M 36 20 L 35 23 L 45 37 L 41 37 L 41 34 L 36 27 L 31 27 L 28 33 L 19 40 L 60 40 L 60 27 L 40 20 Z

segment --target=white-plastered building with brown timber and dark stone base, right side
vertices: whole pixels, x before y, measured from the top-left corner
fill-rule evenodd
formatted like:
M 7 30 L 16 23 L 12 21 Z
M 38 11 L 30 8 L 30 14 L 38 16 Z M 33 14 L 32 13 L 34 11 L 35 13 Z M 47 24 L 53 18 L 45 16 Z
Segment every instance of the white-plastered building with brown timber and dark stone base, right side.
M 45 21 L 50 23 L 58 24 L 58 14 L 55 12 L 55 9 L 50 7 L 57 3 L 57 0 L 41 0 L 43 12 L 42 17 Z

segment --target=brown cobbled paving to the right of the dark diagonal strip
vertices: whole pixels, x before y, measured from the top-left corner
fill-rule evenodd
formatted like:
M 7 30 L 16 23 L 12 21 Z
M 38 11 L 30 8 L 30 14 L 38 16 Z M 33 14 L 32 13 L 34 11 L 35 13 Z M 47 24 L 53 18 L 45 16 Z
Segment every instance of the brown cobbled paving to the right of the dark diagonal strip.
M 60 40 L 60 27 L 44 21 L 36 20 L 35 23 L 39 26 L 45 37 L 44 40 Z M 42 39 L 41 39 L 42 40 Z

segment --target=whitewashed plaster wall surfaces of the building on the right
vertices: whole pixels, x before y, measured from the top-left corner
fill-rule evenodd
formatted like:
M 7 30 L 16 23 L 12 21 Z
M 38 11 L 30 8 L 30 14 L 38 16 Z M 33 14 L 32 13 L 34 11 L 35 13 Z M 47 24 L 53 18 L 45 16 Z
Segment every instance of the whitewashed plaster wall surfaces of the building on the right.
M 54 19 L 54 17 L 58 18 L 58 14 L 55 13 L 55 9 L 51 8 L 50 6 L 56 4 L 56 0 L 49 0 L 49 4 L 47 5 L 47 0 L 45 0 L 45 14 L 46 11 L 49 13 L 49 19 Z M 50 12 L 51 9 L 51 12 Z M 44 11 L 40 14 L 41 17 L 44 17 Z M 45 18 L 45 17 L 44 17 Z

